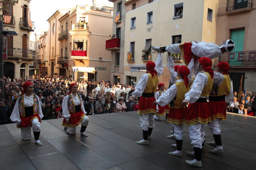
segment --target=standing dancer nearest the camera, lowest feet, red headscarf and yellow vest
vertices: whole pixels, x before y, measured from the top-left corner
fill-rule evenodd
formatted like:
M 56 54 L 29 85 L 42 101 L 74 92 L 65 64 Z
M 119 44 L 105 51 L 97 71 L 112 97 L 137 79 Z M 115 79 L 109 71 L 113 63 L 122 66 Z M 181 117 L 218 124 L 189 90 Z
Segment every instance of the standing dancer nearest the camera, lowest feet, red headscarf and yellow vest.
M 182 104 L 185 106 L 189 103 L 187 109 L 186 122 L 189 126 L 189 136 L 194 152 L 186 151 L 189 155 L 195 156 L 192 161 L 186 160 L 191 166 L 201 167 L 202 143 L 205 136 L 205 124 L 210 122 L 210 111 L 206 97 L 210 95 L 213 85 L 212 62 L 208 57 L 202 57 L 198 60 L 197 70 L 194 83 L 188 93 L 185 94 L 185 100 Z

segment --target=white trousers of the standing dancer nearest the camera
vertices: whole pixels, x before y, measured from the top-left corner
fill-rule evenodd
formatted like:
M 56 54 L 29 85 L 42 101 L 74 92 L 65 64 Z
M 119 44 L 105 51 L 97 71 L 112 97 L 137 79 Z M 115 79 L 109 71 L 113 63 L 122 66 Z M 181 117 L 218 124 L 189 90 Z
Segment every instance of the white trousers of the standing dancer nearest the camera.
M 189 136 L 193 147 L 202 148 L 202 143 L 205 140 L 205 125 L 197 123 L 189 126 Z

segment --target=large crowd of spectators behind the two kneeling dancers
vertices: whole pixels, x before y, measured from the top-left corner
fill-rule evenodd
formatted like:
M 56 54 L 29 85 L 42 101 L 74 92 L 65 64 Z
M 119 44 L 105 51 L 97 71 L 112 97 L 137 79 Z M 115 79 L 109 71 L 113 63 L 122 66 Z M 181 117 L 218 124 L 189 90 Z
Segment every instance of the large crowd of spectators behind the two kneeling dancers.
M 10 115 L 23 90 L 22 85 L 27 81 L 34 83 L 34 94 L 39 97 L 43 120 L 62 118 L 61 104 L 71 83 L 78 84 L 77 93 L 87 115 L 135 111 L 138 108 L 138 98 L 134 102 L 129 100 L 135 90 L 135 86 L 129 84 L 125 86 L 104 80 L 75 81 L 62 76 L 30 76 L 13 80 L 8 77 L 4 80 L 4 89 L 0 89 L 0 124 L 13 123 Z

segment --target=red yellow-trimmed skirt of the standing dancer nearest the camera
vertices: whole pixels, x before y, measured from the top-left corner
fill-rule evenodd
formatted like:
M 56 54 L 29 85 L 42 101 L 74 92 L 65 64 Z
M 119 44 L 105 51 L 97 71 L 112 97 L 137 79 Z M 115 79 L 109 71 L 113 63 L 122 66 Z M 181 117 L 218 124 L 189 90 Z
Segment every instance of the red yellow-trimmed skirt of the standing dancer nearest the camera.
M 207 124 L 211 122 L 210 111 L 207 103 L 189 103 L 186 123 L 188 126 L 201 123 Z

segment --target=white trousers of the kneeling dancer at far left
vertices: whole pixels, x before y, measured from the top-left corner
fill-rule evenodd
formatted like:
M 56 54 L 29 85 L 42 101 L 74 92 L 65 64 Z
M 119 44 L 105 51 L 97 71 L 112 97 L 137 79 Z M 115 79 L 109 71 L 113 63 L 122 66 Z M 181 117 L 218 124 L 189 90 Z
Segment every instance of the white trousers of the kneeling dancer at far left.
M 38 119 L 34 119 L 31 122 L 31 124 L 32 124 L 32 130 L 33 131 L 35 131 L 35 132 L 39 132 L 40 131 L 41 123 L 38 121 Z M 31 139 L 31 127 L 30 126 L 20 128 L 20 130 L 21 130 L 22 139 L 24 139 L 24 140 Z

